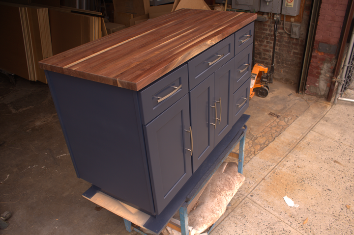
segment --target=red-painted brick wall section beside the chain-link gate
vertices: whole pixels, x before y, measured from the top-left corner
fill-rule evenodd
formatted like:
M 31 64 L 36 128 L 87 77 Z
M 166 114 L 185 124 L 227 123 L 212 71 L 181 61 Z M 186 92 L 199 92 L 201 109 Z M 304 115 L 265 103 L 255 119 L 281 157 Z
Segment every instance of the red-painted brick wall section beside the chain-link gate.
M 319 52 L 319 43 L 338 45 L 348 0 L 322 0 L 305 93 L 326 97 L 336 63 L 334 54 Z

